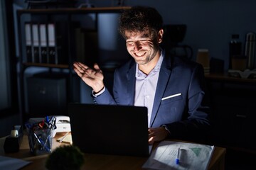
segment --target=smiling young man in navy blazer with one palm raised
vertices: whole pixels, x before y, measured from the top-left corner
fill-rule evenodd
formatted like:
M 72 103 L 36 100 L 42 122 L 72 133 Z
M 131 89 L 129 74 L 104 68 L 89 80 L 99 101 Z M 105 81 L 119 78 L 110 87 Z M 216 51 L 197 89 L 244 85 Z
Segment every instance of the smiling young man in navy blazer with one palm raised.
M 119 32 L 133 57 L 114 72 L 113 96 L 100 67 L 75 62 L 74 70 L 91 86 L 95 102 L 146 106 L 149 144 L 168 138 L 201 141 L 208 135 L 209 107 L 203 67 L 161 49 L 162 17 L 151 7 L 134 6 L 121 14 Z

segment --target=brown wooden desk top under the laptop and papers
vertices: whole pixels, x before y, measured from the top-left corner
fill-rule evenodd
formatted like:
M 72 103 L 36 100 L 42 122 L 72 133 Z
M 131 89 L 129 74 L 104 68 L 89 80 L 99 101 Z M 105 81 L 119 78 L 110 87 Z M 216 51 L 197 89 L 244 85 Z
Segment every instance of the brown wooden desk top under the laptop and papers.
M 65 135 L 64 133 L 57 133 L 55 135 L 55 140 L 53 140 L 53 149 L 59 147 L 60 144 L 56 142 L 56 139 Z M 210 160 L 209 169 L 210 170 L 223 170 L 225 169 L 225 148 L 215 147 L 212 159 Z M 28 137 L 24 135 L 23 142 L 18 153 L 4 154 L 6 157 L 15 157 L 23 159 L 26 161 L 31 161 L 31 164 L 23 167 L 26 169 L 46 169 L 45 163 L 48 154 L 32 156 L 29 152 L 28 147 Z M 147 157 L 128 157 L 128 156 L 118 156 L 118 155 L 107 155 L 107 154 L 85 154 L 85 165 L 82 169 L 85 170 L 136 170 L 142 169 L 142 165 L 146 162 Z

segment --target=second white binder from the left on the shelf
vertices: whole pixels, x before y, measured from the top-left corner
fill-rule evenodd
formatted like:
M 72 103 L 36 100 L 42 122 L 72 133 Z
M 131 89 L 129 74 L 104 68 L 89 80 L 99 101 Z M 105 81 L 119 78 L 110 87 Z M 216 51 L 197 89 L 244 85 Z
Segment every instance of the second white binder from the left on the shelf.
M 32 62 L 41 62 L 39 56 L 38 23 L 32 23 Z

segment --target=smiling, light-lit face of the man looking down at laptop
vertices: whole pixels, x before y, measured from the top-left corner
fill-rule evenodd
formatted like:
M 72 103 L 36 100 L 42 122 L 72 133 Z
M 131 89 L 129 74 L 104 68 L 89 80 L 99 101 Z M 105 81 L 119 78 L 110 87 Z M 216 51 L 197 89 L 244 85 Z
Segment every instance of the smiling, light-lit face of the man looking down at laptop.
M 156 38 L 150 38 L 148 31 L 125 32 L 127 51 L 138 64 L 156 64 L 160 57 L 159 43 L 163 30 Z

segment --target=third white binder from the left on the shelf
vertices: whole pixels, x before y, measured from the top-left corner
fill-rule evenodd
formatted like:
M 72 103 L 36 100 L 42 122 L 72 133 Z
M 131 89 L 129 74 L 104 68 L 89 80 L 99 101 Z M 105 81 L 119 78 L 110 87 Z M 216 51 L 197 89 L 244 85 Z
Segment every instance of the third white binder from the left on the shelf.
M 40 32 L 40 57 L 42 63 L 48 63 L 46 23 L 39 24 Z

